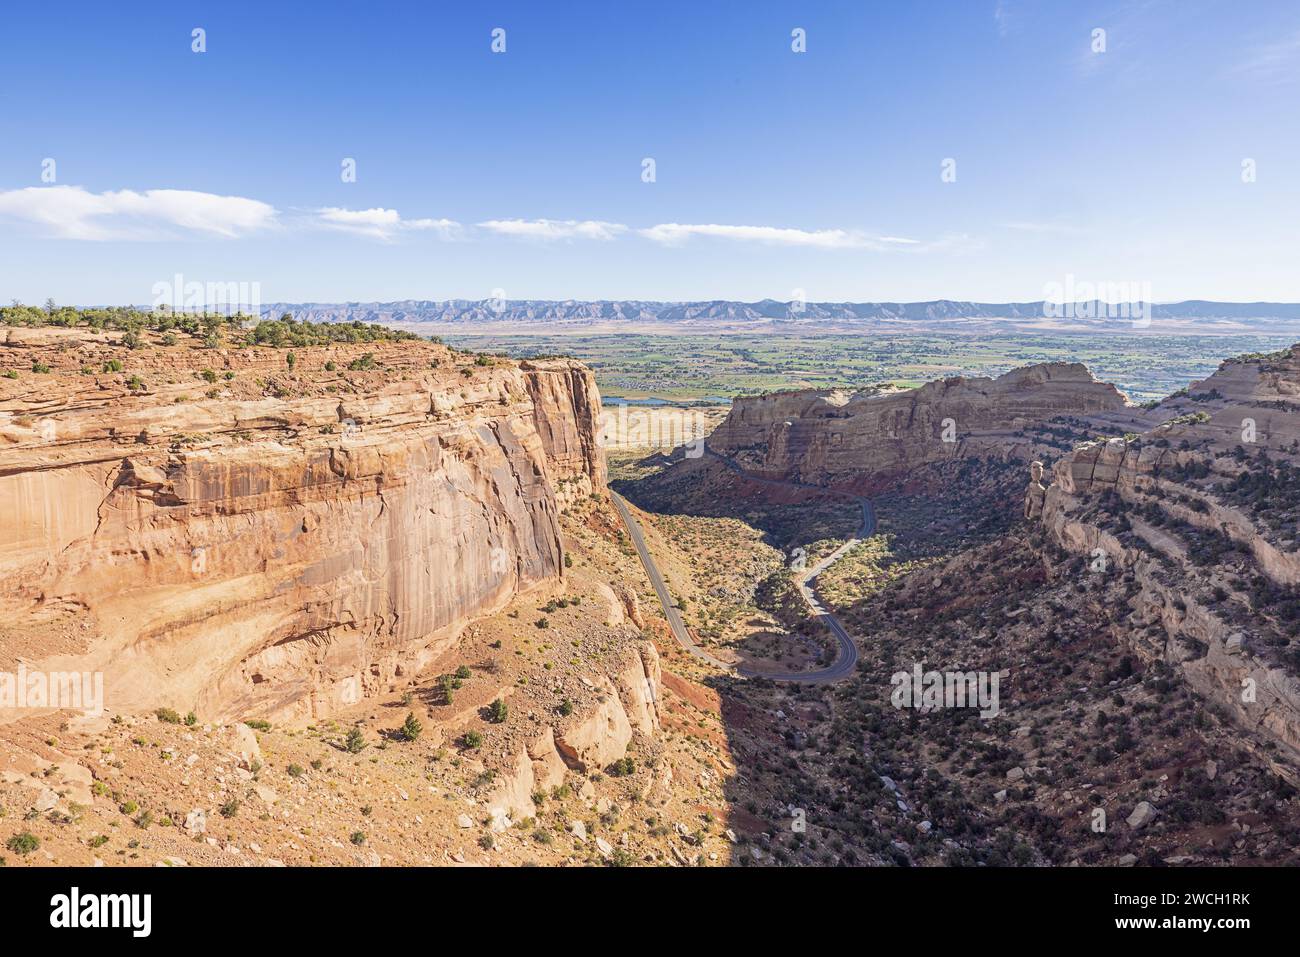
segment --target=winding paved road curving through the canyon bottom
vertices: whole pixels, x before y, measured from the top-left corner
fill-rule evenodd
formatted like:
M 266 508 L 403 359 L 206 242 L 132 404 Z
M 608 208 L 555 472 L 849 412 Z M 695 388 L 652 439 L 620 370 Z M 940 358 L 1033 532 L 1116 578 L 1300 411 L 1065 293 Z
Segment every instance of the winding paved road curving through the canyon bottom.
M 822 605 L 822 599 L 816 593 L 815 581 L 822 572 L 835 564 L 846 551 L 849 551 L 849 549 L 863 538 L 868 538 L 875 534 L 876 514 L 875 508 L 871 507 L 871 502 L 866 498 L 861 498 L 859 495 L 852 495 L 846 492 L 837 492 L 835 489 L 826 489 L 820 485 L 786 482 L 777 481 L 775 478 L 759 478 L 742 469 L 725 455 L 719 455 L 712 449 L 706 447 L 705 452 L 711 458 L 718 459 L 748 481 L 758 482 L 760 485 L 784 485 L 811 489 L 832 495 L 852 498 L 862 507 L 862 527 L 853 538 L 823 558 L 812 566 L 802 579 L 797 580 L 800 594 L 803 596 L 803 601 L 807 602 L 811 612 L 820 619 L 822 624 L 831 629 L 832 635 L 835 635 L 836 642 L 838 644 L 835 662 L 824 668 L 820 668 L 819 671 L 758 671 L 754 668 L 737 668 L 733 664 L 728 664 L 727 662 L 715 658 L 696 644 L 696 640 L 686 629 L 686 624 L 681 620 L 681 614 L 677 611 L 677 606 L 672 601 L 672 594 L 668 592 L 668 585 L 664 583 L 663 575 L 659 573 L 659 567 L 655 564 L 654 557 L 650 554 L 650 549 L 646 547 L 645 537 L 641 534 L 641 525 L 637 523 L 632 510 L 628 508 L 627 499 L 611 489 L 610 497 L 614 499 L 614 507 L 618 510 L 619 518 L 623 519 L 623 525 L 628 529 L 632 544 L 636 546 L 637 554 L 641 557 L 641 564 L 646 570 L 646 576 L 650 579 L 650 584 L 654 586 L 655 594 L 659 596 L 659 603 L 663 606 L 663 614 L 668 619 L 668 627 L 672 629 L 673 637 L 677 638 L 677 644 L 715 668 L 729 671 L 734 675 L 740 675 L 741 677 L 766 677 L 772 681 L 798 681 L 802 684 L 827 684 L 829 681 L 840 681 L 848 677 L 853 674 L 853 670 L 858 663 L 858 646 L 853 642 L 853 638 L 849 637 L 849 632 L 844 629 L 840 620 Z

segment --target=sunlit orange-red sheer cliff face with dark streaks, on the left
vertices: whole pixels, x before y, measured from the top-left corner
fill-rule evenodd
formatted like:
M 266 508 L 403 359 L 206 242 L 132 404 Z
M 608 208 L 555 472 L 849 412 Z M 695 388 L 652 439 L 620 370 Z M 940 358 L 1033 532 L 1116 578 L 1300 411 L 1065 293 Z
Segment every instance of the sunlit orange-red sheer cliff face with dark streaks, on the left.
M 9 339 L 9 368 L 55 371 L 0 380 L 6 657 L 101 670 L 112 709 L 306 718 L 377 693 L 563 575 L 558 490 L 604 484 L 577 363 L 368 343 L 287 376 L 283 350 L 148 350 L 133 393 L 74 372 L 104 355 L 84 337 Z M 363 351 L 377 371 L 324 369 Z M 209 365 L 234 378 L 209 389 Z

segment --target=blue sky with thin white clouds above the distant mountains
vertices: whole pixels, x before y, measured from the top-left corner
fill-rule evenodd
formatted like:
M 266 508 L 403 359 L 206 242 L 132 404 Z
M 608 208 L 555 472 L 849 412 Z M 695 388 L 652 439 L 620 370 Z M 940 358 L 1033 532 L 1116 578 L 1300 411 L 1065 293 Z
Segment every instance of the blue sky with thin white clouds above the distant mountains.
M 268 7 L 5 9 L 0 296 L 1300 300 L 1295 3 Z

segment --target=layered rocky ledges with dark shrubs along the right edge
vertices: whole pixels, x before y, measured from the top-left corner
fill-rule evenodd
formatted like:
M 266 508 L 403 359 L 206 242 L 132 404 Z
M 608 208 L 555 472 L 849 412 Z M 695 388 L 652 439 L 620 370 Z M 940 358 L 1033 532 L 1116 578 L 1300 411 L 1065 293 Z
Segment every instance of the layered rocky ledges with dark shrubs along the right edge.
M 1026 510 L 1115 583 L 1115 637 L 1300 767 L 1300 346 L 1228 360 L 1164 424 L 1062 458 Z

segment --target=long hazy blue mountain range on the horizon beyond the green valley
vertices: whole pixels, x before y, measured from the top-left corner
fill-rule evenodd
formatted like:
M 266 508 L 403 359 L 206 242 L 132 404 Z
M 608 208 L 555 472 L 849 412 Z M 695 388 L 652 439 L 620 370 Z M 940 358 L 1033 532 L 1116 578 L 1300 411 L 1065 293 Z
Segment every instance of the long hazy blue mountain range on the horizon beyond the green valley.
M 313 322 L 436 324 L 438 326 L 711 326 L 731 330 L 789 326 L 888 326 L 959 329 L 1013 325 L 1027 329 L 1143 329 L 1149 325 L 1223 332 L 1277 332 L 1300 325 L 1300 303 L 1182 303 L 1115 306 L 1102 302 L 975 303 L 936 299 L 920 303 L 744 303 L 727 299 L 690 303 L 649 300 L 580 302 L 515 299 L 403 299 L 390 303 L 270 303 L 264 316 Z M 1135 321 L 1136 320 L 1136 321 Z M 1150 320 L 1150 322 L 1145 321 Z M 1190 329 L 1191 330 L 1191 329 Z M 541 332 L 537 329 L 536 332 Z

